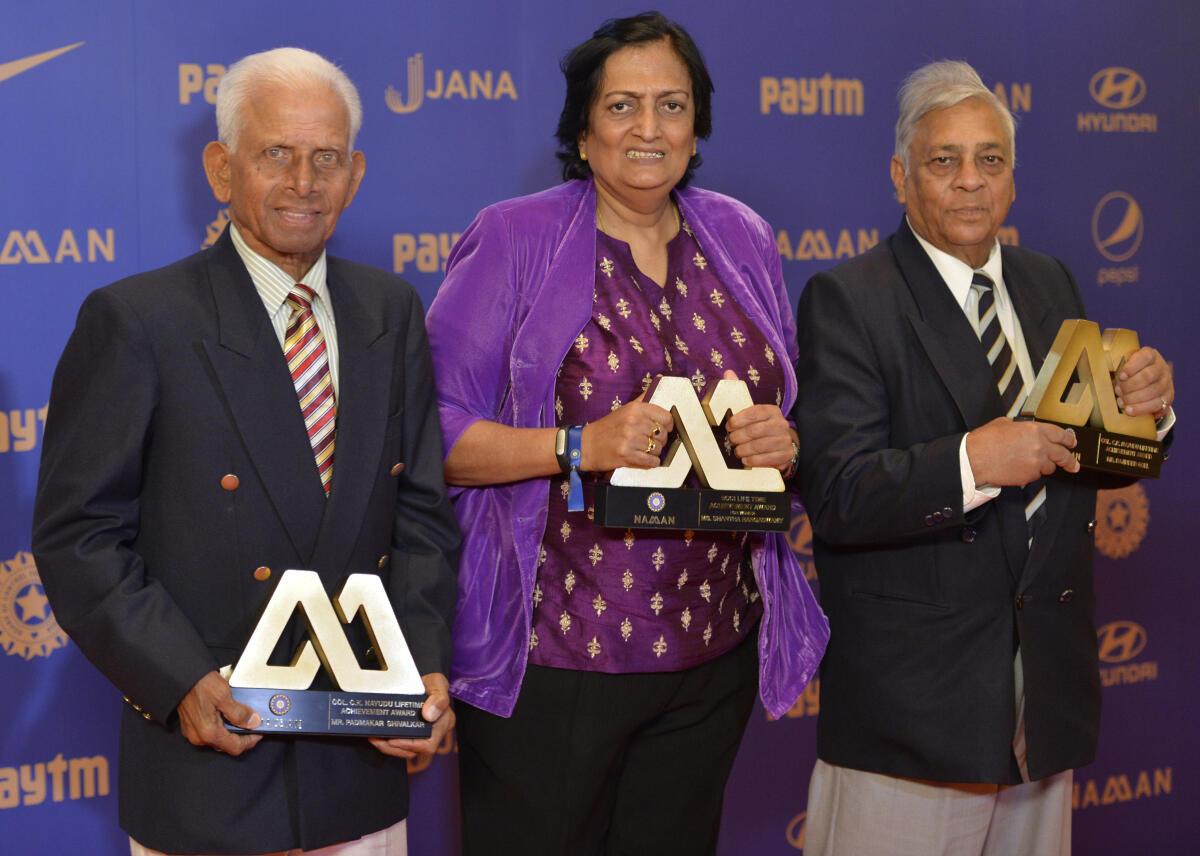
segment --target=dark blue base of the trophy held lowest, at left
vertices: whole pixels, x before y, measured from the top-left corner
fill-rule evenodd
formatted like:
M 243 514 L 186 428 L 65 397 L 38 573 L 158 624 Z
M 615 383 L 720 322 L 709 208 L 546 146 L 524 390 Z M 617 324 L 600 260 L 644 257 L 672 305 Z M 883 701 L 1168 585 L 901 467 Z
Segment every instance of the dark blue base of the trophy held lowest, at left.
M 428 698 L 324 689 L 232 687 L 233 698 L 263 718 L 257 729 L 226 724 L 239 734 L 312 734 L 343 737 L 428 737 L 433 724 L 421 718 Z

